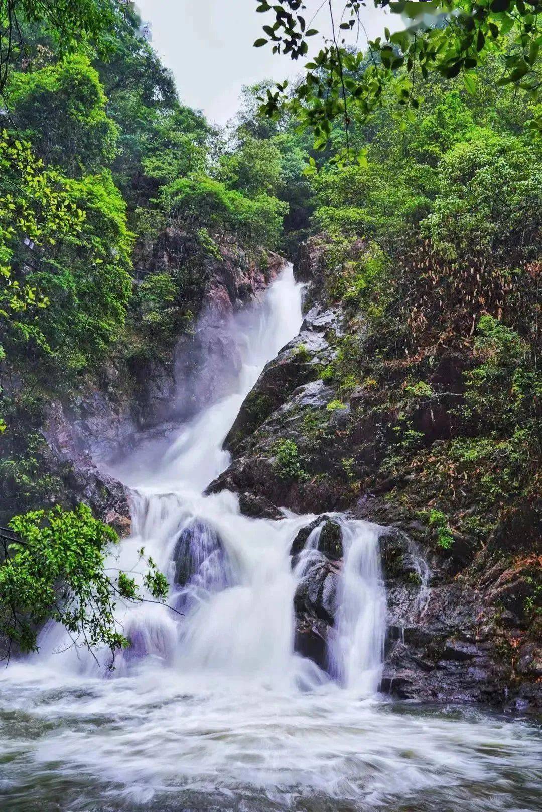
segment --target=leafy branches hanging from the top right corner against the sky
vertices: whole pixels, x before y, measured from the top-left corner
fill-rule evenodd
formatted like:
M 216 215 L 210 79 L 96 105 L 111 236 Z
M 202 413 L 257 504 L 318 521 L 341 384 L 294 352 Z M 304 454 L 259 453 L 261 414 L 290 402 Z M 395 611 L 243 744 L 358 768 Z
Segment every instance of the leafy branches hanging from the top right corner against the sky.
M 306 73 L 290 97 L 290 107 L 299 117 L 300 126 L 315 136 L 314 148 L 325 149 L 333 124 L 342 121 L 344 144 L 336 156 L 338 162 L 357 159 L 350 131 L 355 122 L 365 122 L 381 106 L 385 89 L 391 88 L 405 123 L 419 108 L 419 77 L 426 80 L 437 71 L 446 80 L 462 75 L 467 89 L 474 92 L 476 71 L 489 55 L 502 57 L 498 84 L 512 84 L 537 102 L 540 93 L 540 45 L 542 45 L 542 0 L 426 0 L 426 2 L 389 2 L 375 0 L 375 6 L 389 6 L 409 19 L 402 31 L 368 42 L 368 58 L 347 47 L 346 34 L 363 28 L 360 0 L 346 0 L 341 19 L 333 16 L 332 3 L 322 3 L 329 12 L 332 37 L 305 65 Z M 309 28 L 302 0 L 279 0 L 273 6 L 263 0 L 256 11 L 273 15 L 273 24 L 265 24 L 266 37 L 256 40 L 260 47 L 268 42 L 273 53 L 290 54 L 292 59 L 308 55 L 309 38 L 317 33 Z M 315 11 L 317 11 L 315 6 Z M 303 13 L 302 13 L 303 12 Z M 311 13 L 311 12 L 309 12 Z M 286 84 L 267 89 L 262 110 L 274 116 Z M 542 132 L 540 109 L 531 119 L 533 132 Z

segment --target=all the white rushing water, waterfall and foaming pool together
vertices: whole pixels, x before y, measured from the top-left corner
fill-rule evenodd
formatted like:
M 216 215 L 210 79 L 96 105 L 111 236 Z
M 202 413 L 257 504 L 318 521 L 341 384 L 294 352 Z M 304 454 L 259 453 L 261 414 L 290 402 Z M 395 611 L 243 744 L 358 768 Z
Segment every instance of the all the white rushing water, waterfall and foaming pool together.
M 1 810 L 540 809 L 542 735 L 527 719 L 390 702 L 376 693 L 385 638 L 378 529 L 338 516 L 345 562 L 329 679 L 293 651 L 290 544 L 312 516 L 239 513 L 204 497 L 228 464 L 222 441 L 265 363 L 297 334 L 290 268 L 232 320 L 235 391 L 116 474 L 132 489 L 133 537 L 171 583 L 166 607 L 127 607 L 131 647 L 108 671 L 62 628 L 0 676 Z M 179 584 L 183 584 L 182 586 Z

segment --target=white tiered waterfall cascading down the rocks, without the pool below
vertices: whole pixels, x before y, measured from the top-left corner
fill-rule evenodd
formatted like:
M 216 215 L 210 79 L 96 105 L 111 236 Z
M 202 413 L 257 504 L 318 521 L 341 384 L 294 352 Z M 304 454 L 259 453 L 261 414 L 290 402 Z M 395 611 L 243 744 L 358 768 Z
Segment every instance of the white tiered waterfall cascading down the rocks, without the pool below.
M 260 303 L 227 326 L 241 359 L 234 391 L 183 425 L 161 454 L 139 451 L 137 464 L 129 457 L 115 472 L 131 489 L 133 530 L 114 566 L 137 573 L 144 546 L 167 574 L 170 605 L 182 613 L 147 603 L 125 607 L 122 624 L 131 646 L 118 655 L 119 674 L 154 660 L 205 677 L 314 684 L 315 667 L 294 652 L 293 598 L 303 568 L 292 572 L 289 555 L 295 533 L 314 516 L 251 519 L 227 491 L 202 495 L 229 464 L 222 443 L 243 399 L 265 364 L 297 335 L 302 295 L 288 266 Z M 345 555 L 329 673 L 368 695 L 378 686 L 385 628 L 377 531 L 342 516 L 338 521 Z M 317 532 L 309 536 L 304 560 L 320 555 L 317 538 Z M 69 646 L 61 628 L 47 629 L 40 642 L 42 656 L 44 648 L 52 656 Z M 80 662 L 80 652 L 71 654 L 74 663 L 75 657 L 76 668 L 95 668 L 88 658 Z M 108 657 L 104 651 L 104 665 Z M 316 681 L 322 679 L 320 674 Z

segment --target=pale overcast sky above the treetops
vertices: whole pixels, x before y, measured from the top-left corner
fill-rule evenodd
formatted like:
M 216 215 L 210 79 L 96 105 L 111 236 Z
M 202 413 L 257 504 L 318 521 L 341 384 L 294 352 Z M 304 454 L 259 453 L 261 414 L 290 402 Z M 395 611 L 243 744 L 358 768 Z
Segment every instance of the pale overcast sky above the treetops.
M 306 0 L 307 20 L 320 2 Z M 173 71 L 179 97 L 213 123 L 224 124 L 235 113 L 243 84 L 290 79 L 299 72 L 299 63 L 273 56 L 268 46 L 252 47 L 270 16 L 256 13 L 255 0 L 136 0 L 136 6 L 152 24 L 153 46 Z M 344 2 L 333 0 L 333 6 Z M 383 35 L 385 25 L 393 30 L 390 23 L 400 20 L 372 4 L 363 9 L 363 19 L 370 38 Z M 329 33 L 325 9 L 314 25 Z M 320 45 L 320 37 L 312 41 Z

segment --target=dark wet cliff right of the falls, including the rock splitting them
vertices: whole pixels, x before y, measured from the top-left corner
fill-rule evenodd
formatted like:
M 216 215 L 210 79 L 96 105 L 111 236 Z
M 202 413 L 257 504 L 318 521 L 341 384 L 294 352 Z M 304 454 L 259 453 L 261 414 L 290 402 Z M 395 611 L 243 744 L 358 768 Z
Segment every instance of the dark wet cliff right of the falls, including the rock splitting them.
M 252 516 L 277 516 L 279 505 L 320 515 L 322 555 L 295 595 L 299 652 L 326 667 L 342 567 L 340 528 L 327 514 L 346 510 L 383 527 L 388 634 L 381 690 L 424 701 L 540 707 L 540 503 L 515 503 L 481 543 L 420 511 L 411 493 L 434 504 L 430 486 L 408 468 L 389 473 L 397 410 L 376 382 L 345 396 L 329 374 L 338 356 L 344 361 L 351 335 L 363 346 L 365 328 L 325 293 L 322 240 L 301 246 L 295 274 L 308 283 L 303 326 L 247 396 L 226 439 L 230 467 L 209 492 L 239 492 Z M 445 396 L 415 404 L 415 429 L 428 447 L 458 430 L 452 404 L 464 391 L 467 363 L 458 353 L 441 357 L 430 382 Z M 292 546 L 294 558 L 312 526 Z M 439 533 L 450 538 L 444 543 Z

